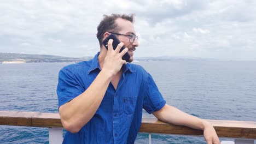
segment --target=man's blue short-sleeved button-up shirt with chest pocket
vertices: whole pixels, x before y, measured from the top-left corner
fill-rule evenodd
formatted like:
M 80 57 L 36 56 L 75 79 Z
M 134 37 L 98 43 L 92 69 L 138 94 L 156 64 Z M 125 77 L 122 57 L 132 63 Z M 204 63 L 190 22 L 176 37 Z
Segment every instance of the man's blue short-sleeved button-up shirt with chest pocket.
M 60 70 L 57 95 L 59 107 L 84 91 L 101 68 L 98 54 L 90 61 L 68 65 Z M 142 120 L 166 103 L 150 74 L 141 66 L 123 65 L 117 89 L 109 83 L 100 107 L 91 120 L 75 134 L 67 131 L 63 143 L 134 143 Z

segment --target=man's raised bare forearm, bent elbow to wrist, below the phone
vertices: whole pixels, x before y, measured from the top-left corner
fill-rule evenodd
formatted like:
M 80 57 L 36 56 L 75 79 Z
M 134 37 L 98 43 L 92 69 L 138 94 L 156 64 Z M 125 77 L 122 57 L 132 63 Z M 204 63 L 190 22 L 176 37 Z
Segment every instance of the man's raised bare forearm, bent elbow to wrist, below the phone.
M 94 116 L 111 81 L 111 76 L 102 70 L 85 92 L 60 106 L 63 127 L 77 133 Z

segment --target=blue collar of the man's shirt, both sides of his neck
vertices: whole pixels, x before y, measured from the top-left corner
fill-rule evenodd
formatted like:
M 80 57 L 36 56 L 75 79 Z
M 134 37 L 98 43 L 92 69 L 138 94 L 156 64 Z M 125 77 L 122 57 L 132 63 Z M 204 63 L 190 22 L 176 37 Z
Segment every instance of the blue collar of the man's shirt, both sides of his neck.
M 98 63 L 98 55 L 100 55 L 100 52 L 98 52 L 98 53 L 94 56 L 94 58 L 91 60 L 91 61 L 92 61 L 92 62 L 91 62 L 91 67 L 90 67 L 90 69 L 88 70 L 88 74 L 90 74 L 91 71 L 94 71 L 94 70 L 96 70 L 96 69 L 101 70 L 100 64 Z M 130 64 L 130 63 L 124 64 L 123 67 L 122 67 L 122 69 L 124 70 L 123 73 L 126 73 L 126 71 L 135 72 L 135 70 L 133 70 L 133 69 L 131 68 L 131 64 Z

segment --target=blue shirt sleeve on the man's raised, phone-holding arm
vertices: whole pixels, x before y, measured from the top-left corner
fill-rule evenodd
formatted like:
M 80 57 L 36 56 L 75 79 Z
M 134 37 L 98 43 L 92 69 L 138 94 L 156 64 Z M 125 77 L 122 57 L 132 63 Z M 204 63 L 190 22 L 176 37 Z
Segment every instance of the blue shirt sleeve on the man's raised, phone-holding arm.
M 57 95 L 59 107 L 71 101 L 85 91 L 83 86 L 68 68 L 62 68 L 59 73 Z

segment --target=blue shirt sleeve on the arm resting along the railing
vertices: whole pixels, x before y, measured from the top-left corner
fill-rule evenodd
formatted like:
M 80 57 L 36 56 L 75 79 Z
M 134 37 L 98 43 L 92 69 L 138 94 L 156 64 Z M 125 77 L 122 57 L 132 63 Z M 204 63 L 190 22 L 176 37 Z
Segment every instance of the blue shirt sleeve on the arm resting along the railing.
M 162 97 L 162 94 L 159 92 L 153 77 L 149 73 L 146 74 L 144 88 L 143 109 L 149 114 L 162 109 L 162 107 L 166 104 L 166 101 Z

